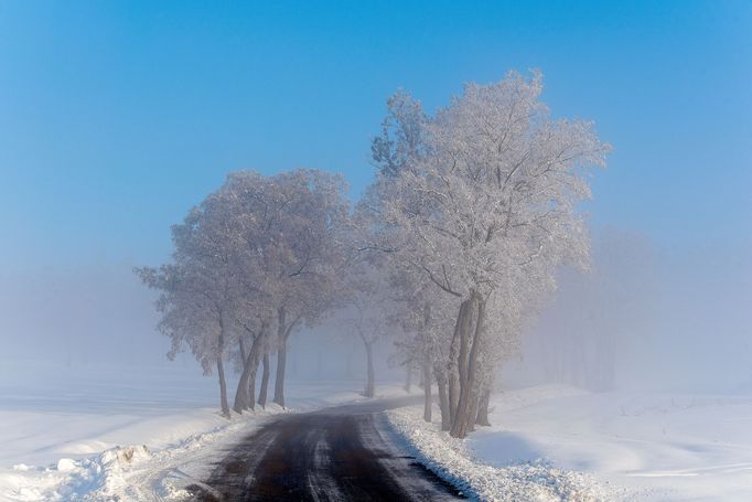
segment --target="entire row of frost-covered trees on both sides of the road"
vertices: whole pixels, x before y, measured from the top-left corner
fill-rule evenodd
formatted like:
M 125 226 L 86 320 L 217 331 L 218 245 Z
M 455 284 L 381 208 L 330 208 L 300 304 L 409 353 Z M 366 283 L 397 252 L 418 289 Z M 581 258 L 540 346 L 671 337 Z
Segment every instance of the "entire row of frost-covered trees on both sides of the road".
M 336 174 L 230 173 L 172 227 L 172 260 L 137 269 L 160 292 L 169 355 L 187 348 L 216 371 L 227 416 L 225 364 L 240 374 L 243 413 L 266 405 L 276 355 L 284 406 L 290 335 L 336 316 L 366 349 L 366 395 L 373 344 L 389 333 L 397 360 L 421 371 L 427 420 L 436 385 L 444 430 L 487 424 L 523 322 L 562 265 L 587 267 L 578 204 L 609 151 L 591 122 L 551 119 L 541 90 L 540 74 L 509 73 L 433 115 L 396 93 L 372 141 L 374 180 L 352 206 Z

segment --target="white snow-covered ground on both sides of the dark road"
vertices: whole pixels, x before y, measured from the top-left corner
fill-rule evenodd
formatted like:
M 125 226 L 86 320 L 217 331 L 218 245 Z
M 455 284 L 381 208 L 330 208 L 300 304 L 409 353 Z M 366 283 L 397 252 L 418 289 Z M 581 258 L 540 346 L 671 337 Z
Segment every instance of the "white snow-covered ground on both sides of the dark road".
M 0 367 L 0 500 L 180 500 L 226 446 L 283 413 L 228 421 L 215 386 L 192 366 Z M 358 391 L 291 380 L 288 399 L 312 409 L 362 399 Z M 465 440 L 421 415 L 389 417 L 426 462 L 483 498 L 752 500 L 750 396 L 506 391 L 493 397 L 493 426 Z

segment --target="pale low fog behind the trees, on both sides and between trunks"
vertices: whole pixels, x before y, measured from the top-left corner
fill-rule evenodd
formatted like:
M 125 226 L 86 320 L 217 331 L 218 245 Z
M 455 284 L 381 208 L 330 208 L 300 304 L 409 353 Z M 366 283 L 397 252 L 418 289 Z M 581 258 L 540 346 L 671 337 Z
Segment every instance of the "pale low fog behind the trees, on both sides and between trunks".
M 752 246 L 683 249 L 644 233 L 595 228 L 591 268 L 565 269 L 531 319 L 499 384 L 570 383 L 593 391 L 752 392 Z M 190 354 L 168 361 L 154 295 L 131 264 L 6 273 L 0 281 L 0 365 L 20 384 L 30 369 L 159 369 L 204 378 Z M 402 382 L 379 342 L 377 378 Z M 290 377 L 364 380 L 365 352 L 342 325 L 296 335 Z M 127 378 L 127 376 L 125 376 Z M 417 378 L 417 376 L 416 376 Z M 6 386 L 12 385 L 8 380 Z

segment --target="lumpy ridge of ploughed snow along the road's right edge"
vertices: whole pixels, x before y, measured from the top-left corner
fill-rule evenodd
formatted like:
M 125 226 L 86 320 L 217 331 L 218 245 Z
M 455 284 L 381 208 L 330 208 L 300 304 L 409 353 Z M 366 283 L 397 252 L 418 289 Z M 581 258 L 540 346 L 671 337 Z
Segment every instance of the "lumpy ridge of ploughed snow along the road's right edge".
M 422 419 L 422 406 L 387 412 L 391 427 L 412 449 L 418 461 L 484 501 L 601 501 L 605 491 L 589 476 L 556 469 L 544 462 L 495 468 L 472 459 L 465 441 L 441 431 L 439 423 Z

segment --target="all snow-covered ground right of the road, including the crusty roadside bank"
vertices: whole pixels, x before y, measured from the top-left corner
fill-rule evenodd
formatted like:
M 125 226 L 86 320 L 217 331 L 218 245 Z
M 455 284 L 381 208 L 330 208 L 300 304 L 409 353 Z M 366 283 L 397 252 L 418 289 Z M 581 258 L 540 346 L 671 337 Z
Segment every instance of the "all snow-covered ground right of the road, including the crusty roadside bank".
M 490 499 L 752 500 L 752 397 L 549 385 L 497 394 L 492 407 L 493 426 L 465 440 L 422 423 L 420 407 L 390 420 Z

